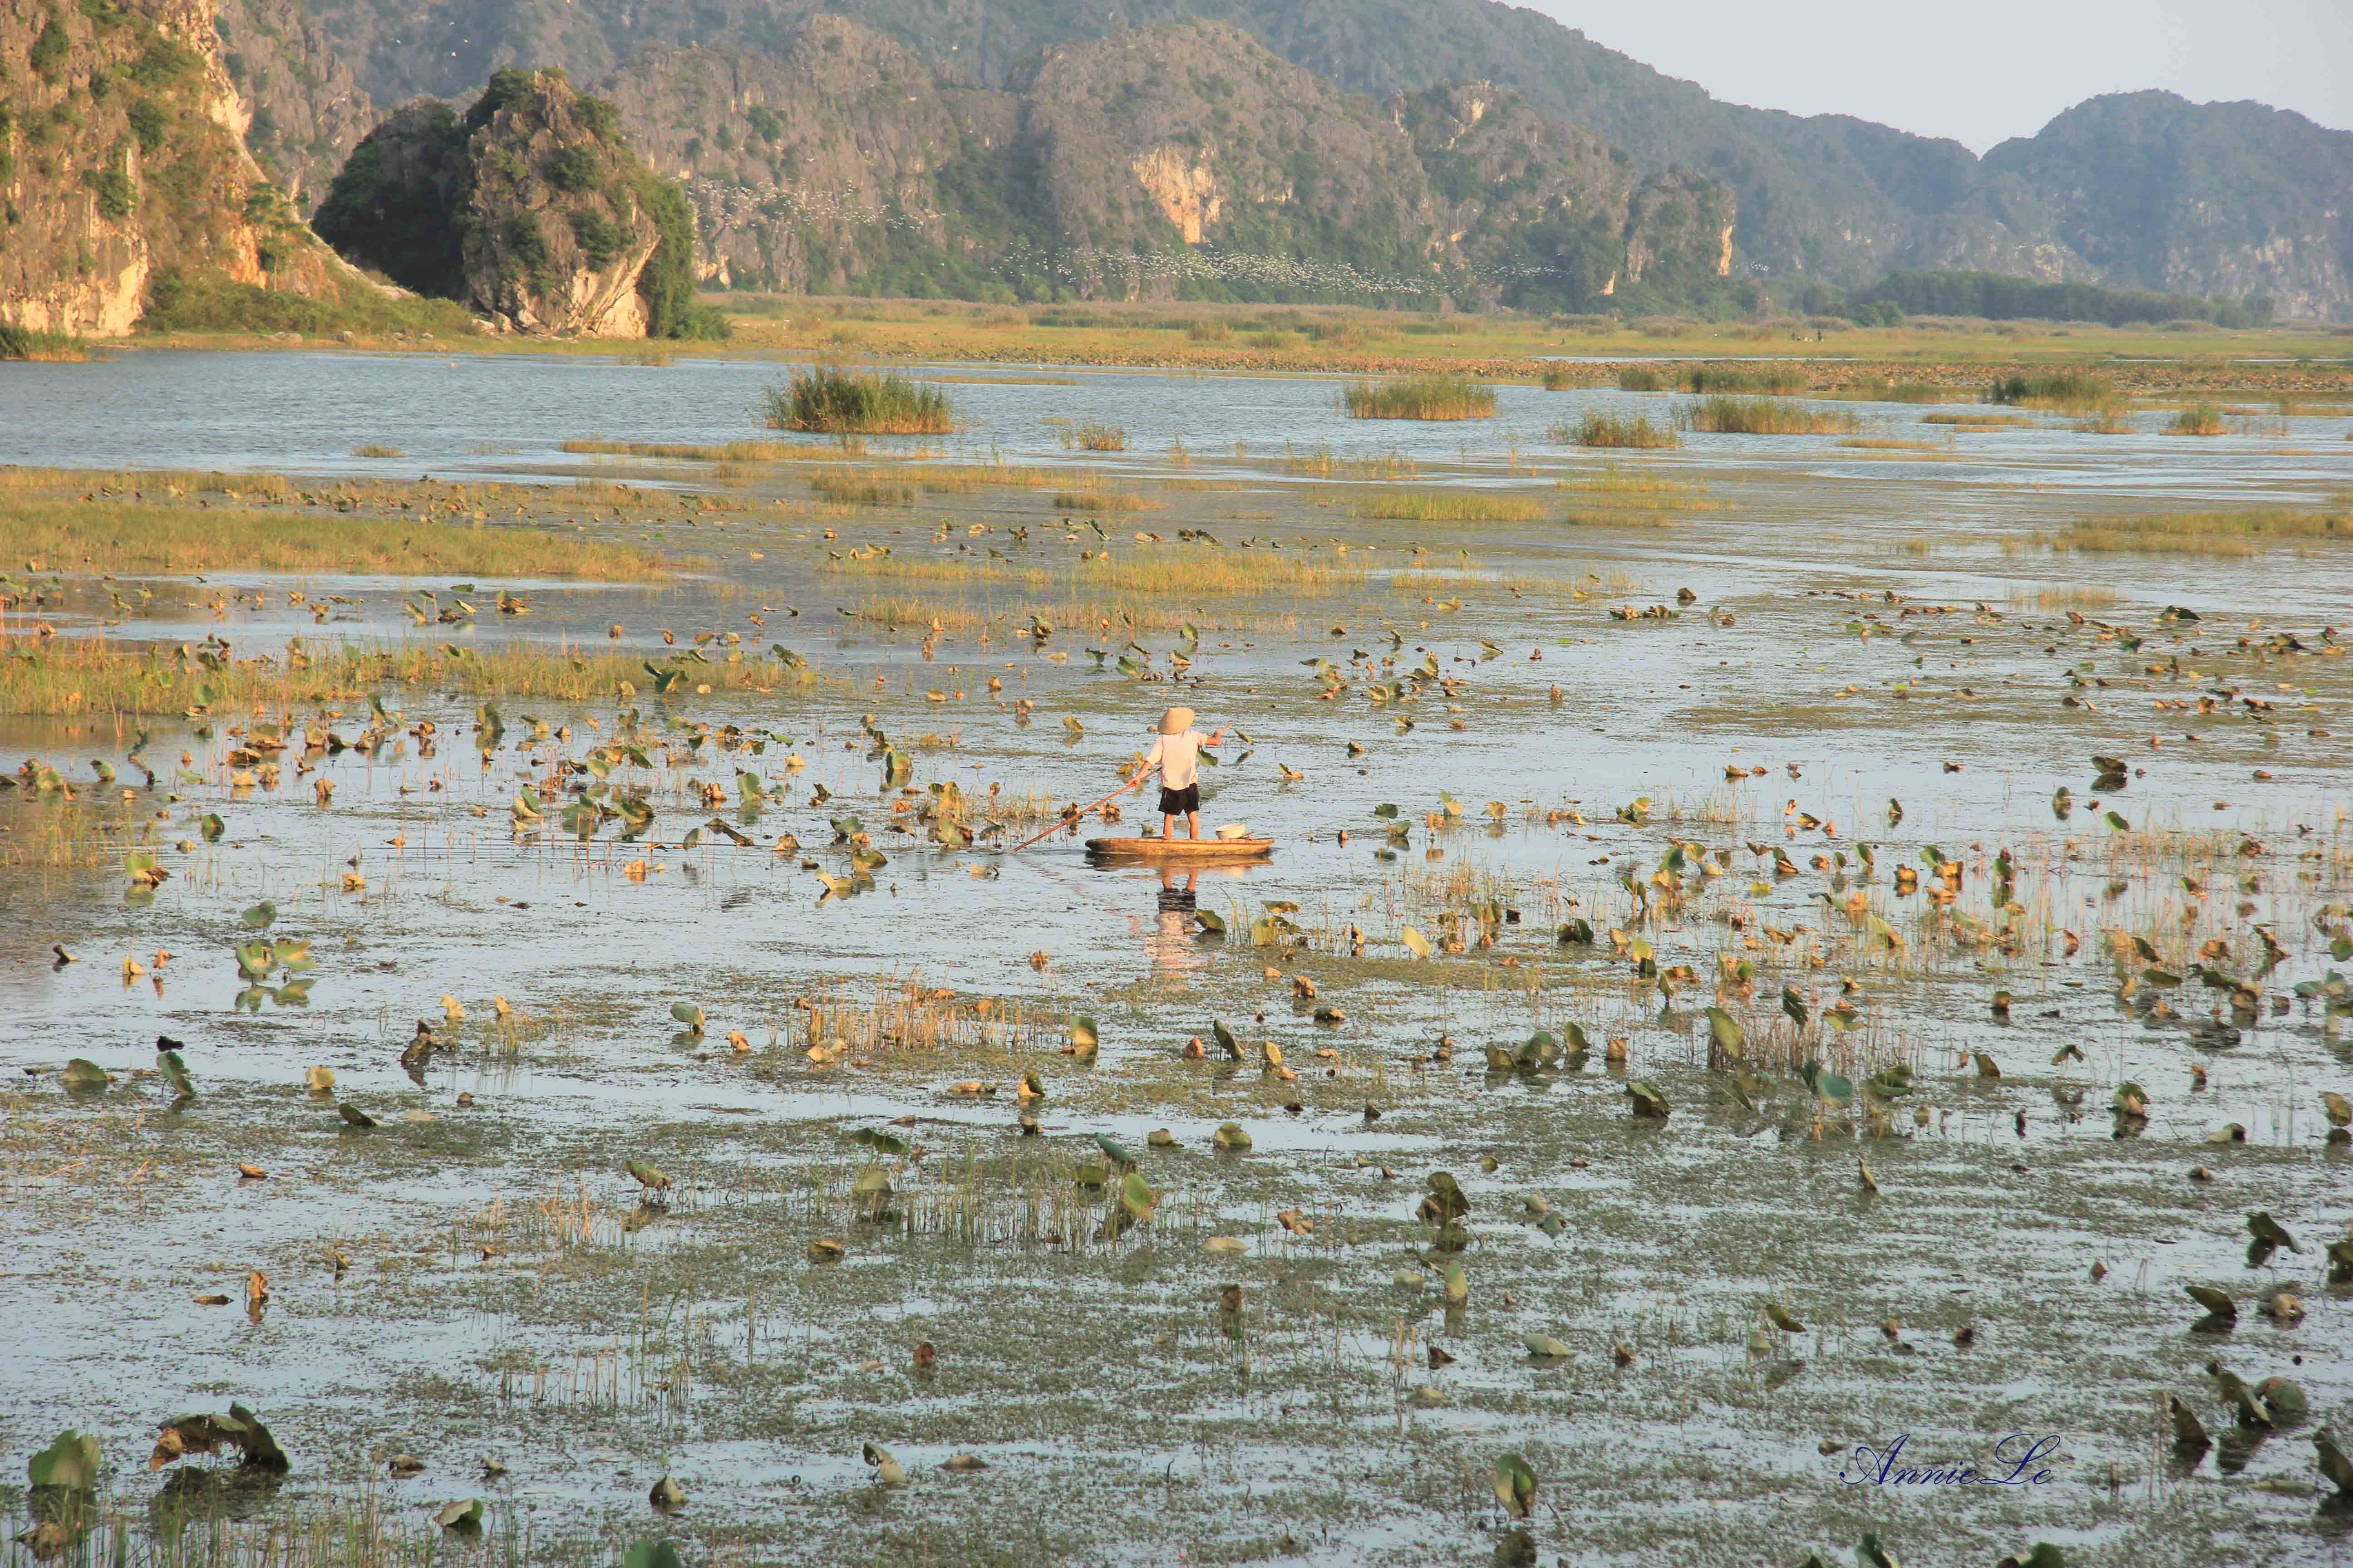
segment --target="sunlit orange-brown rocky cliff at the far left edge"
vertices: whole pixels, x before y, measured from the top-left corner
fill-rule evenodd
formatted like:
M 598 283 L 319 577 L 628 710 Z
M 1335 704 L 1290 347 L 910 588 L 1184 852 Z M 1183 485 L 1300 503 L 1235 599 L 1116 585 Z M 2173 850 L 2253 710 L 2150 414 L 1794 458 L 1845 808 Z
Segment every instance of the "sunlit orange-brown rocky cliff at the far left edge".
M 118 336 L 172 275 L 329 292 L 247 122 L 212 0 L 0 0 L 0 320 Z

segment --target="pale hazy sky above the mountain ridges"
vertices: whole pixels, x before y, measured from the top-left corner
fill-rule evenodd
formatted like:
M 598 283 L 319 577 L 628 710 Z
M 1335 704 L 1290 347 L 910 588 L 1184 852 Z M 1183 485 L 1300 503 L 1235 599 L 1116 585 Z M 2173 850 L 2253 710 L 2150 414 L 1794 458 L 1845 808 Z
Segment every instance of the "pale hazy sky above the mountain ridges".
M 1520 0 L 1718 99 L 1984 153 L 2068 103 L 2167 87 L 2353 129 L 2353 0 Z

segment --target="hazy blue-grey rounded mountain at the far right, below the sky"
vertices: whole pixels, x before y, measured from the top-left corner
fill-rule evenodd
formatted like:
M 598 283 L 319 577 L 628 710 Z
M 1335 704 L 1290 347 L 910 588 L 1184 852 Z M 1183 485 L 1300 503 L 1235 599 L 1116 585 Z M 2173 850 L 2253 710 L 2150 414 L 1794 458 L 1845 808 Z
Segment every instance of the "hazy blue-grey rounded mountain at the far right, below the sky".
M 1986 167 L 2047 205 L 2052 280 L 2353 317 L 2353 132 L 2132 92 L 2078 103 L 1986 153 Z

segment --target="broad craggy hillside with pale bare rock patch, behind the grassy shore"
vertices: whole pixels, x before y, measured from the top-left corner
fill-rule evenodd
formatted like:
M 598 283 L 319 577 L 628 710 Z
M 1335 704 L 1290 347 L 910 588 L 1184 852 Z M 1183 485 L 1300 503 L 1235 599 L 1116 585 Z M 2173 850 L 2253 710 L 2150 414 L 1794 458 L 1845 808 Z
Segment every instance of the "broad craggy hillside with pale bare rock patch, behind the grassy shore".
M 776 56 L 654 52 L 605 89 L 687 181 L 720 284 L 1581 303 L 1621 275 L 1713 284 L 1732 223 L 1718 181 L 1638 181 L 1506 89 L 1374 103 L 1217 24 L 1049 49 L 995 92 L 821 19 Z

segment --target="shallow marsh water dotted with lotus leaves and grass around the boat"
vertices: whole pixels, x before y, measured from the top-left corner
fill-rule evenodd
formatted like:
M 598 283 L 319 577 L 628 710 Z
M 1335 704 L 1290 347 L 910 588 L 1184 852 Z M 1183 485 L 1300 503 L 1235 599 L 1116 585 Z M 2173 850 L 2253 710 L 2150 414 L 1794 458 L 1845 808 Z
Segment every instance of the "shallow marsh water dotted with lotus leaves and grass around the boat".
M 2353 1552 L 2346 404 L 0 369 L 0 1561 Z

